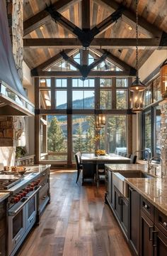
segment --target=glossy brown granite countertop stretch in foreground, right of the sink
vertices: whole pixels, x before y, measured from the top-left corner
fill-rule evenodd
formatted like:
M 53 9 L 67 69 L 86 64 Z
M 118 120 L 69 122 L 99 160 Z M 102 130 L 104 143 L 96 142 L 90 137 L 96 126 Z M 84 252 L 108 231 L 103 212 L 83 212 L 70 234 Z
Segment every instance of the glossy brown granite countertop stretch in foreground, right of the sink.
M 167 178 L 125 178 L 125 181 L 167 215 Z

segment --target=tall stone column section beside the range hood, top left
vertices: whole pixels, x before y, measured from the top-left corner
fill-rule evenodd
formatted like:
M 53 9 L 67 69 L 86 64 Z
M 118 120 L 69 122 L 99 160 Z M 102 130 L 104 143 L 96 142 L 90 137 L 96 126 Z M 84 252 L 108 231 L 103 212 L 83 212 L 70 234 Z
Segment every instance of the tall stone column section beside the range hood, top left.
M 8 26 L 18 75 L 23 81 L 23 0 L 6 0 Z

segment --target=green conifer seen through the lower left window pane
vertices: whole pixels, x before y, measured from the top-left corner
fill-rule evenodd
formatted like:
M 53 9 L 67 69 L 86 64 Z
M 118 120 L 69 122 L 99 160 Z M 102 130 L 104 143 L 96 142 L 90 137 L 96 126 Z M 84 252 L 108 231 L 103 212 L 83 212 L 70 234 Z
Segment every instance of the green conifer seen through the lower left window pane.
M 56 117 L 52 118 L 50 127 L 47 132 L 48 136 L 48 151 L 62 152 L 64 151 L 64 136 L 62 128 Z

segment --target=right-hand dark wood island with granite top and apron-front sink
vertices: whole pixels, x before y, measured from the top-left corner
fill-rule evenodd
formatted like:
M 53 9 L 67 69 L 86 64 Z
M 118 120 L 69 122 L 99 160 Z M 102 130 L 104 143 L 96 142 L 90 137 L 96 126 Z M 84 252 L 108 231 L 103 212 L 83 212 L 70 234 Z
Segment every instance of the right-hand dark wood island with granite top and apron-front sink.
M 133 255 L 167 254 L 166 178 L 157 178 L 154 171 L 148 174 L 146 165 L 106 164 L 105 202 Z

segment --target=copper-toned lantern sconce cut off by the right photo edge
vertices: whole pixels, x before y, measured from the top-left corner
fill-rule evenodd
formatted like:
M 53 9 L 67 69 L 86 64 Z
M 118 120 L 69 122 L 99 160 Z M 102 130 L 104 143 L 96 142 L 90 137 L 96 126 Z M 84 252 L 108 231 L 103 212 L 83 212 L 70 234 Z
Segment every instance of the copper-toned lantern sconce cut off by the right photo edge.
M 167 59 L 161 65 L 160 75 L 161 75 L 161 95 L 163 97 L 163 100 L 167 100 Z

